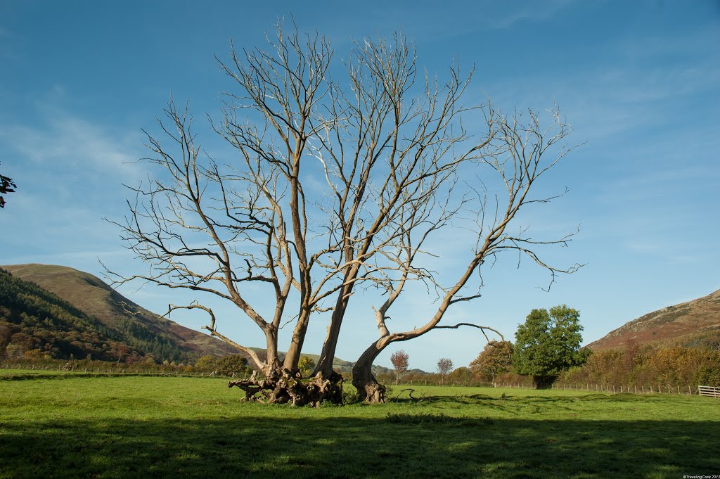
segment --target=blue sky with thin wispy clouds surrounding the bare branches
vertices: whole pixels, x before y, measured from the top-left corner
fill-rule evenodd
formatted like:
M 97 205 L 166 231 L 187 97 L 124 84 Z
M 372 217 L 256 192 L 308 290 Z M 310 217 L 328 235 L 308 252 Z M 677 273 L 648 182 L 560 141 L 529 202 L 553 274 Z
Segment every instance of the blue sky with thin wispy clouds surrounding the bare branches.
M 264 46 L 276 22 L 291 15 L 302 32 L 326 35 L 338 60 L 353 40 L 402 30 L 426 71 L 442 76 L 454 58 L 464 71 L 474 66 L 469 99 L 539 112 L 557 104 L 574 128 L 570 140 L 582 144 L 542 186 L 570 191 L 521 220 L 555 236 L 580 225 L 552 259 L 585 267 L 546 292 L 538 268 L 501 261 L 484 273 L 482 297 L 451 309 L 444 323 L 472 321 L 513 339 L 533 308 L 567 304 L 580 310 L 587 344 L 644 313 L 720 289 L 720 3 L 710 0 L 314 1 L 302 8 L 0 0 L 0 173 L 17 183 L 0 210 L 0 264 L 60 264 L 102 277 L 103 261 L 142 272 L 104 218 L 122 220 L 130 198 L 123 184 L 148 174 L 136 161 L 146 156 L 143 128 L 155 131 L 154 117 L 172 96 L 189 101 L 204 145 L 220 148 L 204 117 L 219 115 L 219 94 L 232 84 L 215 55 L 227 59 L 231 40 Z M 446 264 L 451 269 L 452 257 Z M 143 285 L 119 290 L 158 313 L 194 299 Z M 377 338 L 369 305 L 353 304 L 337 352 L 349 361 Z M 431 307 L 413 290 L 389 326 L 416 326 Z M 217 308 L 227 336 L 264 346 L 248 318 Z M 205 323 L 190 313 L 172 318 L 194 329 Z M 305 352 L 320 352 L 327 324 L 323 317 L 311 323 Z M 281 349 L 286 340 L 283 332 Z M 459 367 L 484 346 L 476 330 L 434 331 L 390 346 L 377 364 L 389 367 L 390 354 L 405 349 L 411 368 L 436 370 L 440 357 Z

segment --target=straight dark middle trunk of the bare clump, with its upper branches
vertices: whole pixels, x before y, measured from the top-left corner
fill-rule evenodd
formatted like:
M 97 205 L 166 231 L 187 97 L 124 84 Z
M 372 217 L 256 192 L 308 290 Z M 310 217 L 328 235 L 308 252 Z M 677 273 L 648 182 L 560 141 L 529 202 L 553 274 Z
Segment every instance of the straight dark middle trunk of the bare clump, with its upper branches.
M 480 158 L 490 141 L 490 132 L 469 135 L 460 121 L 475 109 L 461 102 L 471 75 L 454 65 L 445 83 L 427 74 L 418 81 L 415 62 L 402 35 L 357 45 L 348 61 L 349 89 L 333 90 L 332 121 L 314 139 L 332 193 L 325 230 L 338 238 L 329 264 L 342 279 L 316 371 L 332 367 L 359 284 L 382 284 L 398 272 L 401 284 L 431 277 L 412 259 L 392 258 L 405 249 L 403 238 L 428 236 L 460 210 L 462 200 L 452 201 L 456 171 Z M 416 253 L 408 251 L 410 258 Z

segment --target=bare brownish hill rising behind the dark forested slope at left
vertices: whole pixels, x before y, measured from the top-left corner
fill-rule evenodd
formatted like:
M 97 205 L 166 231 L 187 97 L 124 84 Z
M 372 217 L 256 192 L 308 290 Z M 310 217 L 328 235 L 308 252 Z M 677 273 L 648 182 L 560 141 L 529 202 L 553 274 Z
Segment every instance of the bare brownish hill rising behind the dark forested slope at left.
M 140 307 L 92 274 L 48 264 L 16 264 L 2 268 L 17 279 L 32 282 L 53 293 L 117 333 L 127 344 L 158 359 L 169 359 L 169 356 L 179 360 L 206 354 L 224 356 L 238 353 L 222 341 Z

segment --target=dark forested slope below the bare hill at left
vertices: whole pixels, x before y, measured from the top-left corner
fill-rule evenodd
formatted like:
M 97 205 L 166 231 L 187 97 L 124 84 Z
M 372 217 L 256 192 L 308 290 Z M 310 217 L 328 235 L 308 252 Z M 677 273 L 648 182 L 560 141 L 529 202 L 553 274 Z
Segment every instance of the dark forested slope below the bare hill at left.
M 188 352 L 141 323 L 110 328 L 52 292 L 0 269 L 0 355 L 182 361 Z

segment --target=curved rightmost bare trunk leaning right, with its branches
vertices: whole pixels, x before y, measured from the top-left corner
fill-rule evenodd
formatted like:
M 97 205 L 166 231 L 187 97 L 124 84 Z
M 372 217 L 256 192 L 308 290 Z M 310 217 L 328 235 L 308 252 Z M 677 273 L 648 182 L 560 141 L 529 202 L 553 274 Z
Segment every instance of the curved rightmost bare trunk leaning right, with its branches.
M 553 111 L 552 117 L 554 121 L 549 127 L 541 127 L 536 112 L 528 112 L 528 121 L 523 123 L 521 115 L 517 113 L 508 117 L 492 107 L 487 107 L 486 118 L 490 127 L 490 141 L 478 158 L 472 159 L 477 176 L 474 184 L 470 184 L 469 187 L 477 194 L 472 200 L 466 199 L 464 205 L 467 209 L 472 209 L 472 205 L 475 205 L 472 223 L 474 246 L 467 255 L 466 267 L 449 286 L 441 285 L 441 278 L 437 276 L 426 277 L 440 292 L 438 305 L 434 308 L 435 312 L 424 320 L 418 318 L 418 322 L 422 324 L 420 327 L 391 333 L 387 327 L 387 311 L 400 297 L 407 283 L 408 272 L 414 272 L 420 267 L 418 256 L 422 255 L 418 255 L 418 252 L 422 251 L 423 242 L 428 237 L 418 234 L 400 236 L 401 247 L 397 249 L 392 260 L 400 267 L 401 274 L 399 277 L 386 277 L 378 282 L 387 294 L 384 303 L 374 311 L 379 338 L 367 347 L 353 368 L 353 384 L 362 399 L 369 402 L 384 400 L 382 398 L 384 388 L 372 375 L 372 363 L 383 349 L 395 341 L 408 341 L 439 328 L 460 326 L 480 328 L 483 334 L 486 330 L 498 333 L 487 326 L 472 323 L 445 325 L 441 324 L 441 320 L 452 305 L 480 297 L 482 269 L 484 266 L 495 264 L 500 254 L 514 252 L 518 254 L 518 261 L 522 256 L 528 257 L 549 272 L 550 285 L 555 281 L 557 274 L 572 273 L 582 266 L 575 264 L 566 269 L 554 267 L 541 259 L 539 254 L 539 250 L 545 246 L 567 246 L 568 241 L 577 231 L 550 240 L 532 238 L 528 235 L 528 230 L 522 228 L 518 229 L 518 233 L 511 233 L 510 227 L 516 223 L 518 212 L 530 205 L 541 205 L 555 198 L 533 197 L 531 192 L 534 191 L 541 176 L 574 148 L 563 143 L 564 138 L 570 134 L 570 127 L 564 124 L 558 111 Z M 493 178 L 500 185 L 500 189 L 490 196 L 487 194 L 489 191 L 487 185 Z M 428 234 L 435 234 L 438 230 L 436 225 L 445 223 L 431 222 L 431 228 L 426 227 L 426 230 Z M 470 287 L 474 290 L 468 292 Z M 500 337 L 502 338 L 502 335 Z

